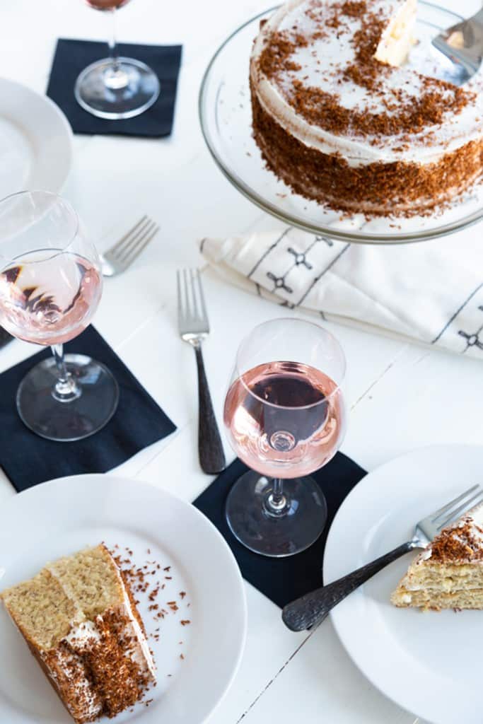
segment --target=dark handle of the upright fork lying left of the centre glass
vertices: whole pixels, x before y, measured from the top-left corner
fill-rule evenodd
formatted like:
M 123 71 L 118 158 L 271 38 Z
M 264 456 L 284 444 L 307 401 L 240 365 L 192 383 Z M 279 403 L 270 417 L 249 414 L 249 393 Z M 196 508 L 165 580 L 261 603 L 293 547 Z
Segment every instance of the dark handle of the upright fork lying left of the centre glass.
M 195 346 L 196 364 L 198 366 L 198 455 L 203 473 L 214 475 L 221 473 L 227 463 L 224 458 L 222 439 L 219 435 L 217 418 L 214 415 L 213 403 L 206 379 L 201 344 Z

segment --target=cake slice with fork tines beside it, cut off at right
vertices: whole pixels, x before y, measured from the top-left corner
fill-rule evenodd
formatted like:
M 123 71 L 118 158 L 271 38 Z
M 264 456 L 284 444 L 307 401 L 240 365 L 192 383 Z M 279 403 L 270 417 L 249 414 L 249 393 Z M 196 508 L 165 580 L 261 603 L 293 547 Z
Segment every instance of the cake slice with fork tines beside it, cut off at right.
M 400 607 L 483 608 L 483 506 L 436 536 L 392 594 Z

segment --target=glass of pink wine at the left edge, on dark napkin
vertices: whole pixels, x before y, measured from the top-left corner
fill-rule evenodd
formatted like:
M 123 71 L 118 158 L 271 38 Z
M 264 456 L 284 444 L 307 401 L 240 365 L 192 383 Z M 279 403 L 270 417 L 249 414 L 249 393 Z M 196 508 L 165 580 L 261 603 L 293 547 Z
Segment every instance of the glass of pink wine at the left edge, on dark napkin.
M 104 427 L 119 389 L 104 365 L 63 353 L 83 332 L 102 293 L 98 254 L 70 203 L 46 191 L 0 201 L 0 324 L 14 337 L 51 345 L 17 390 L 20 418 L 51 440 L 79 440 Z

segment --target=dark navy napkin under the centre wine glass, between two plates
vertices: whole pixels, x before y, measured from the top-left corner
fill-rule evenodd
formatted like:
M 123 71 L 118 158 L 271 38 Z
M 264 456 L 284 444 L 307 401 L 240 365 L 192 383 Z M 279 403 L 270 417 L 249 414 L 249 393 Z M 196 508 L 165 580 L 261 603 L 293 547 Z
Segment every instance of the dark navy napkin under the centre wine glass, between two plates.
M 235 555 L 243 578 L 281 608 L 295 598 L 322 586 L 322 560 L 327 534 L 345 497 L 366 475 L 361 467 L 338 452 L 330 463 L 313 474 L 327 500 L 328 520 L 322 536 L 307 550 L 287 558 L 267 558 L 238 542 L 224 517 L 224 503 L 236 480 L 248 468 L 235 460 L 193 505 L 220 531 Z

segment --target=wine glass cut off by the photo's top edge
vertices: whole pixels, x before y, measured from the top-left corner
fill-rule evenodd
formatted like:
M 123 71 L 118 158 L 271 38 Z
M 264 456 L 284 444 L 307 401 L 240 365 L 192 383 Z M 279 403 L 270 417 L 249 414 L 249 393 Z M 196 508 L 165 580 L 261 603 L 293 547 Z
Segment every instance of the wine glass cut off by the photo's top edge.
M 86 0 L 96 10 L 110 12 L 112 35 L 109 58 L 91 63 L 75 81 L 75 98 L 94 116 L 112 120 L 132 118 L 150 108 L 159 96 L 159 80 L 146 63 L 119 57 L 116 45 L 116 10 L 129 0 Z

